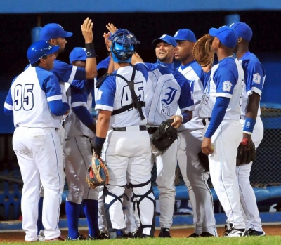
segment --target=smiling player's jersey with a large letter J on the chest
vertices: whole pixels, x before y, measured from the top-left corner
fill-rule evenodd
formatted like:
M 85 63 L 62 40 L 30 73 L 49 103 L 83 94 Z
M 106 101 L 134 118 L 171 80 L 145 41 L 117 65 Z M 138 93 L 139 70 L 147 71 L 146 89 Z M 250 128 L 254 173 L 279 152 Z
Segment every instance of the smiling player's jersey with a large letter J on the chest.
M 170 119 L 180 108 L 181 112 L 194 110 L 194 103 L 187 79 L 173 64 L 157 62 L 148 66 L 148 94 L 146 115 L 148 125 L 159 126 Z

